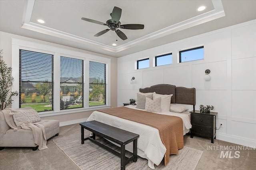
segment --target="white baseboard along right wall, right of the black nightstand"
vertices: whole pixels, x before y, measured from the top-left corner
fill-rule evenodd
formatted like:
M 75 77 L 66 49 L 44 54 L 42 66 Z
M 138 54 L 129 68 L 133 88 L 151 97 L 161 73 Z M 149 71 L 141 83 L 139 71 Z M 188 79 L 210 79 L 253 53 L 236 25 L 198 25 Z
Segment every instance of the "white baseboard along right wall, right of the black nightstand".
M 238 145 L 243 145 L 246 147 L 252 147 L 256 149 L 256 141 L 252 139 L 246 139 L 246 138 L 241 138 L 241 137 L 234 137 L 230 135 L 226 135 L 224 133 L 217 133 L 216 134 L 216 139 L 230 142 L 230 143 L 235 143 Z

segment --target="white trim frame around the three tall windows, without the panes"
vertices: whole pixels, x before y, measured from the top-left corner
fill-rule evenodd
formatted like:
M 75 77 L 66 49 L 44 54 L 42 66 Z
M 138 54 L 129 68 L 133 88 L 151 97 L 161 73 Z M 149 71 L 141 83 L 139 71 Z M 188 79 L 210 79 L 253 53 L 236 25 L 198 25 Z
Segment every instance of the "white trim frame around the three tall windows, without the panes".
M 52 115 L 62 115 L 68 113 L 78 113 L 84 111 L 92 111 L 96 109 L 110 108 L 110 68 L 111 59 L 106 57 L 101 57 L 97 55 L 92 55 L 88 53 L 82 53 L 78 51 L 72 51 L 68 49 L 62 49 L 59 47 L 34 43 L 30 41 L 24 41 L 20 39 L 12 39 L 12 76 L 14 77 L 12 91 L 19 91 L 19 49 L 24 49 L 28 51 L 35 51 L 39 53 L 47 53 L 54 55 L 54 111 L 44 111 L 40 112 L 40 117 L 52 116 Z M 84 107 L 75 108 L 68 110 L 60 110 L 60 56 L 83 59 L 84 60 Z M 107 64 L 106 76 L 108 78 L 108 89 L 106 105 L 89 107 L 89 61 L 96 61 L 98 63 Z M 88 68 L 88 70 L 87 70 Z M 88 99 L 87 99 L 88 98 Z M 19 97 L 13 97 L 12 108 L 19 107 Z

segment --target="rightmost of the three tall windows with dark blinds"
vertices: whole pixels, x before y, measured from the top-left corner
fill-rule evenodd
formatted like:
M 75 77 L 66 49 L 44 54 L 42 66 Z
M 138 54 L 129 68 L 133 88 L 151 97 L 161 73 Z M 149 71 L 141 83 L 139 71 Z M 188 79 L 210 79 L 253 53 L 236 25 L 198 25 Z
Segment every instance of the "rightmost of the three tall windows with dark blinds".
M 106 64 L 89 62 L 89 106 L 106 104 Z

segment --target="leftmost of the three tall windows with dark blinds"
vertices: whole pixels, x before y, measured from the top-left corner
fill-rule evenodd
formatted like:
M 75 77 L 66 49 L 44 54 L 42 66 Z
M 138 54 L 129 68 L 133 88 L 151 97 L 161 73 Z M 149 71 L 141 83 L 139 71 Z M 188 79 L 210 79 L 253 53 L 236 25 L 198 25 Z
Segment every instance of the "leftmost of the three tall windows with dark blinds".
M 19 107 L 53 110 L 53 55 L 20 49 Z

